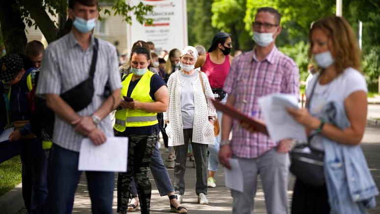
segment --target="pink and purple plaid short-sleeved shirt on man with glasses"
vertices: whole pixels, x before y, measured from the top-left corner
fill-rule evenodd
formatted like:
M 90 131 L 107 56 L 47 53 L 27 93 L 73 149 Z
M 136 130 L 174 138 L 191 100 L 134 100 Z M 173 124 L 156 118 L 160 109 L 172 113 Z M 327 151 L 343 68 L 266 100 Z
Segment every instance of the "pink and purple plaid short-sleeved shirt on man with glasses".
M 298 67 L 276 47 L 273 47 L 263 61 L 256 59 L 254 50 L 249 51 L 234 58 L 224 90 L 235 96 L 236 109 L 263 120 L 259 97 L 275 92 L 298 95 Z M 266 135 L 251 133 L 234 120 L 231 148 L 235 156 L 256 158 L 276 145 Z

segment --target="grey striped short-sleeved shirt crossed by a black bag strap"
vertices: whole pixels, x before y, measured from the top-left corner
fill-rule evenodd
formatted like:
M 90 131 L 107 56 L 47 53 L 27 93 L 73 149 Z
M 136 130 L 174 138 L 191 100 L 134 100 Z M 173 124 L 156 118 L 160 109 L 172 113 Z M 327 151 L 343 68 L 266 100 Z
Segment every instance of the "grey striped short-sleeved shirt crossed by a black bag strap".
M 89 116 L 101 107 L 105 101 L 103 93 L 107 81 L 111 91 L 121 89 L 116 48 L 109 42 L 98 40 L 98 58 L 93 79 L 95 92 L 92 102 L 77 112 L 80 116 Z M 90 45 L 86 51 L 83 50 L 72 31 L 52 42 L 44 52 L 36 94 L 59 95 L 86 80 L 89 77 L 94 45 L 95 41 L 91 36 Z M 110 116 L 104 118 L 98 128 L 106 136 L 114 136 Z M 55 144 L 79 152 L 84 137 L 75 131 L 74 126 L 56 115 L 53 134 Z

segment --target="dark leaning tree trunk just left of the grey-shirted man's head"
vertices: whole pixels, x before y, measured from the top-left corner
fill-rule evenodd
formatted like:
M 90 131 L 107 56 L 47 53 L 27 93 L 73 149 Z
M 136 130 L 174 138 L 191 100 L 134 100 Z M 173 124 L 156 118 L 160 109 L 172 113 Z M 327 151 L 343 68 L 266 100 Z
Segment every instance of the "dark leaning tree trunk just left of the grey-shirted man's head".
M 44 34 L 48 43 L 57 39 L 58 28 L 42 6 L 42 0 L 25 0 L 23 6 L 29 11 L 30 18 Z

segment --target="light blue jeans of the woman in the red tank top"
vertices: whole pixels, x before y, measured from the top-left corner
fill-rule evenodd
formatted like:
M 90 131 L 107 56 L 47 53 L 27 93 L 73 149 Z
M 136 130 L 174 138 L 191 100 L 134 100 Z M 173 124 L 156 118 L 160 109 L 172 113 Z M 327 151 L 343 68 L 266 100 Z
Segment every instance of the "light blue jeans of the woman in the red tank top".
M 228 94 L 221 100 L 220 102 L 223 104 L 226 104 Z M 222 117 L 223 113 L 221 111 L 216 111 L 216 114 L 218 115 L 218 121 L 219 121 L 219 127 L 222 129 Z M 215 137 L 215 143 L 208 145 L 208 152 L 210 152 L 210 155 L 208 156 L 208 171 L 216 172 L 218 170 L 219 165 L 219 150 L 220 150 L 220 140 L 222 138 L 222 131 L 218 134 L 218 136 Z

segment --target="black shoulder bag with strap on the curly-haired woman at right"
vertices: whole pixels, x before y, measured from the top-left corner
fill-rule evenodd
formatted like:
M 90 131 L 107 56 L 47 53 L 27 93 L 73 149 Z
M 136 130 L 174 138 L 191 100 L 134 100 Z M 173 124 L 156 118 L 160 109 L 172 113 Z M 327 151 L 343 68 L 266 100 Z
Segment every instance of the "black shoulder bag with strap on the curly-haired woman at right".
M 306 102 L 306 108 L 310 111 L 310 101 L 314 94 L 314 89 L 319 79 L 313 85 L 310 98 Z M 307 144 L 301 144 L 294 147 L 292 150 L 292 164 L 290 171 L 301 182 L 310 186 L 321 187 L 324 185 L 323 158 L 324 152 L 314 149 L 310 146 L 311 139 L 315 134 L 308 137 Z

